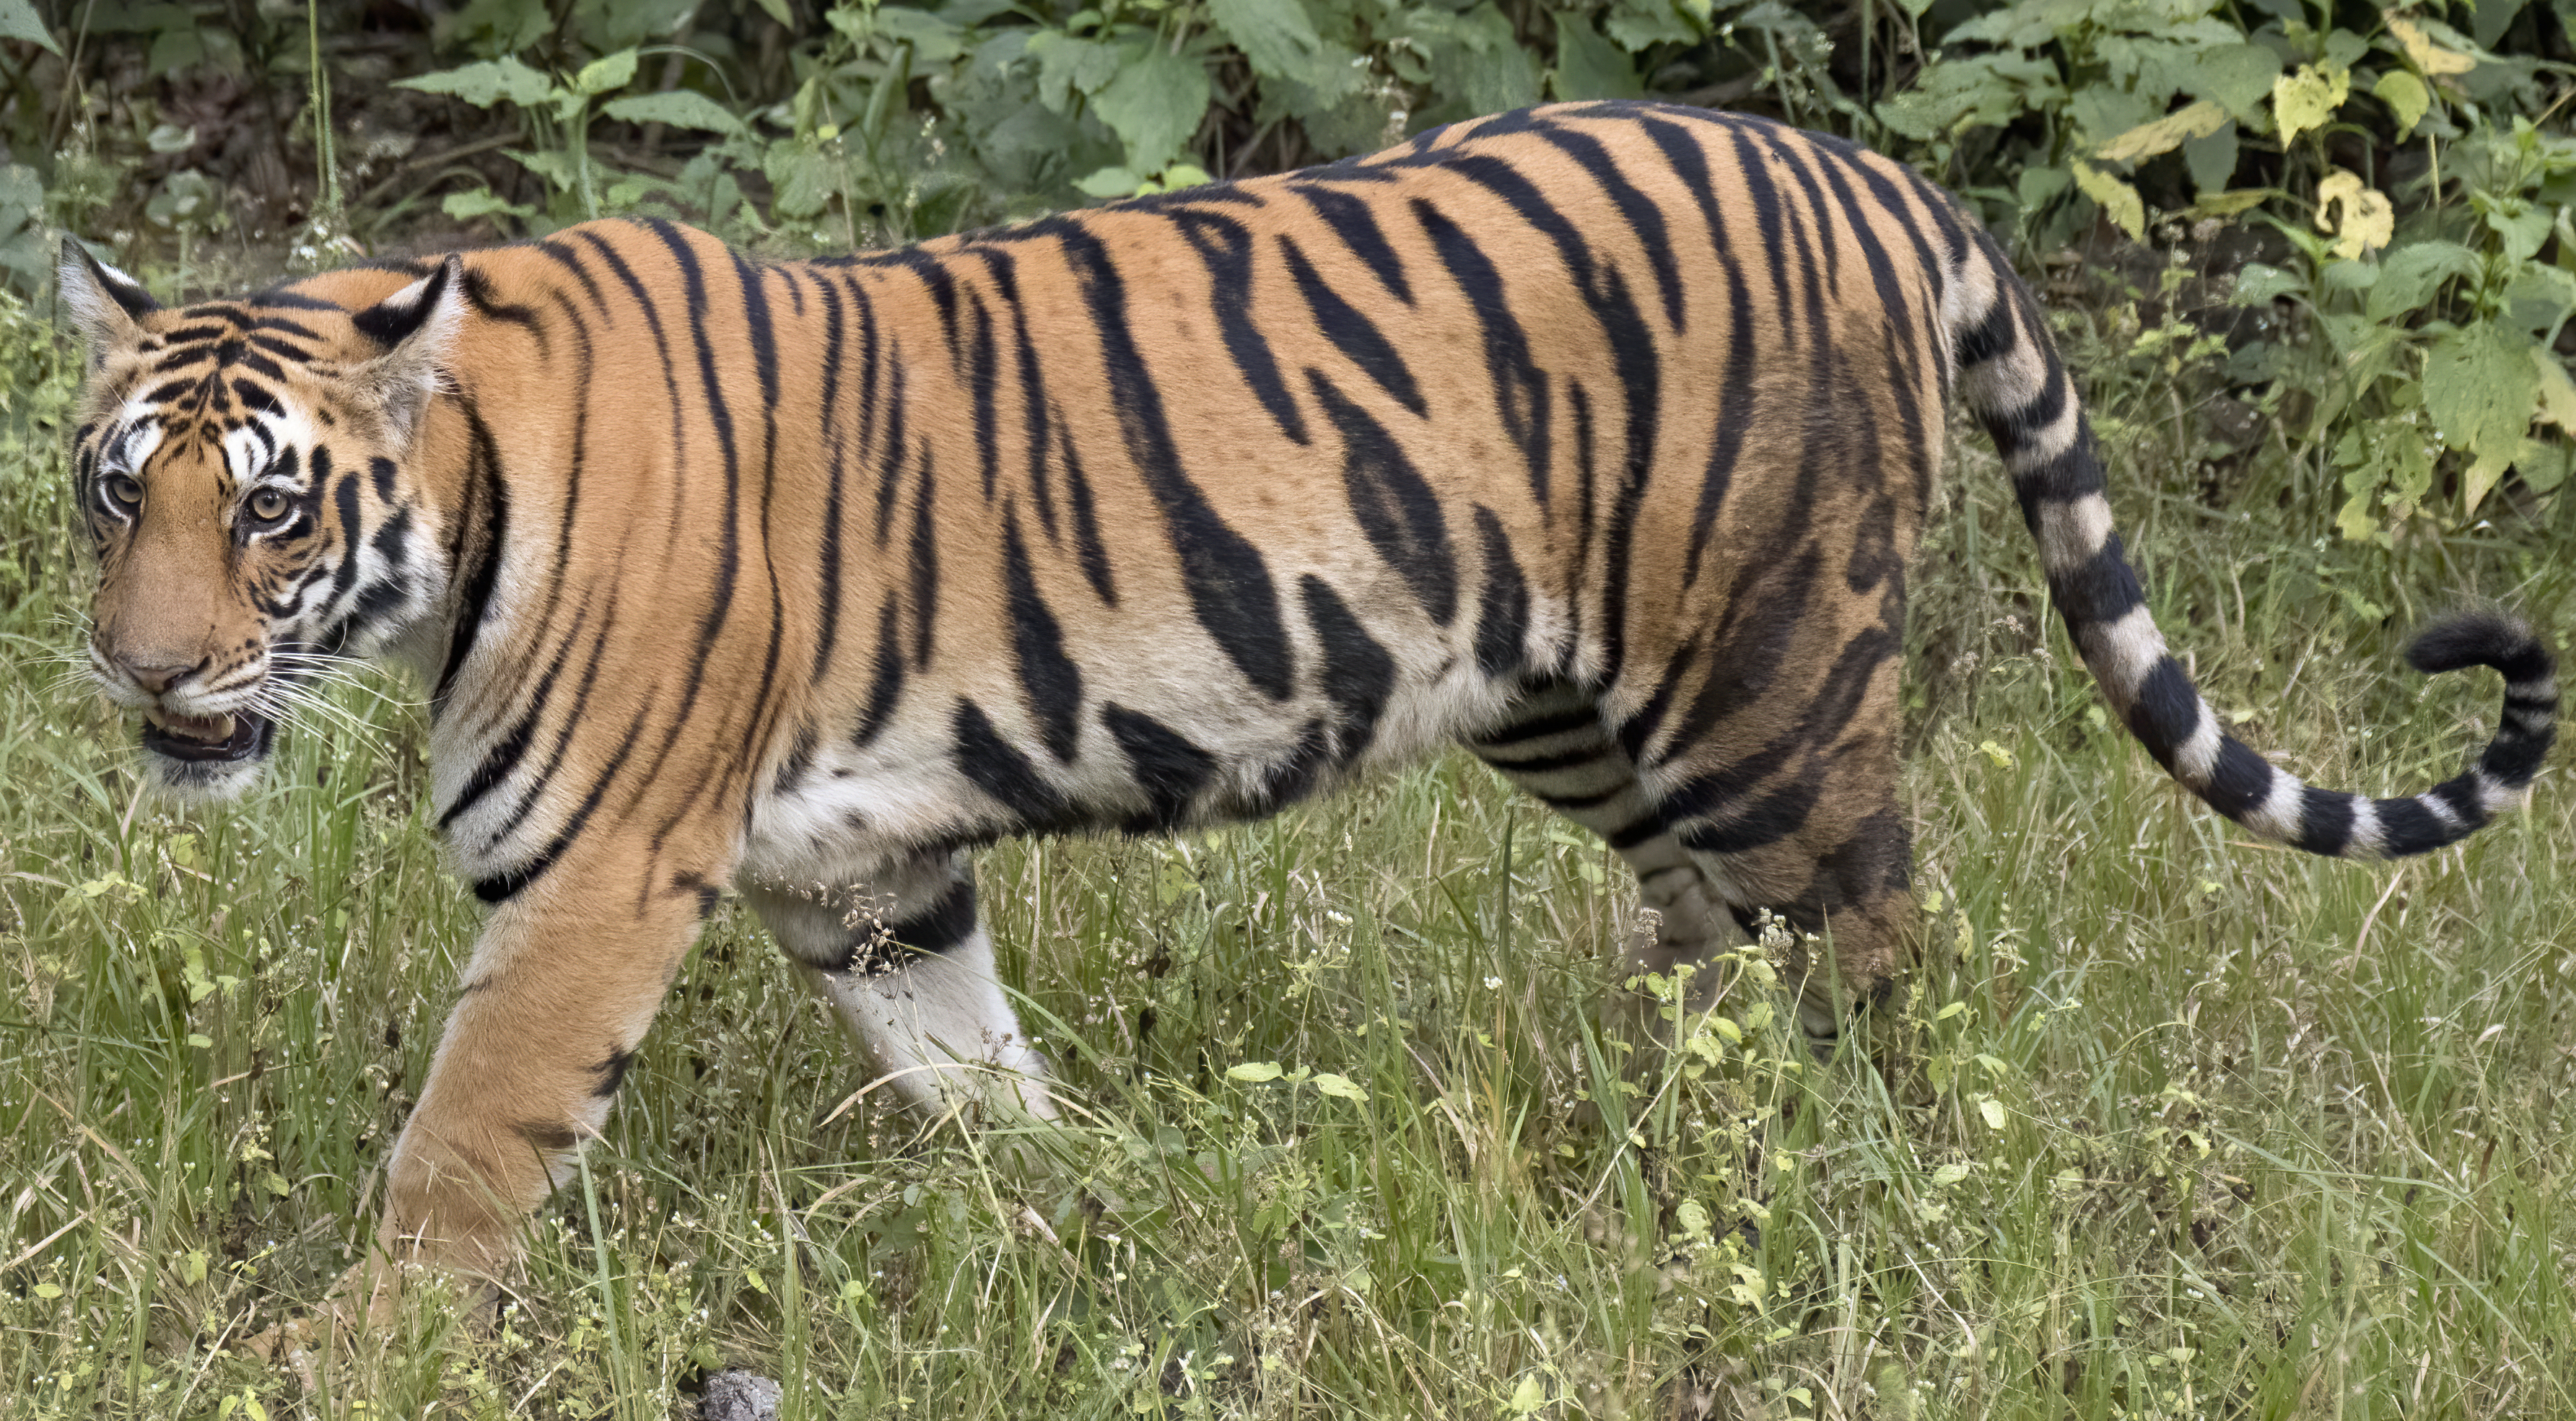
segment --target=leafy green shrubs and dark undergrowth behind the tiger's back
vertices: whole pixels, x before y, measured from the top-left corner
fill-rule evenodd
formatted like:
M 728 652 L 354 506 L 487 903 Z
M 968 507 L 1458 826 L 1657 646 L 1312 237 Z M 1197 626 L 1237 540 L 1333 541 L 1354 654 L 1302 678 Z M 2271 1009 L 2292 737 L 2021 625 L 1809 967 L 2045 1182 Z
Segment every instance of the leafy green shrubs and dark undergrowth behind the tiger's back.
M 886 245 L 1543 98 L 1832 129 L 2123 311 L 2347 538 L 2571 471 L 2568 0 L 0 0 L 0 268 L 175 293 L 662 211 Z M 2249 265 L 2251 263 L 2251 265 Z M 2179 317 L 2179 319 L 2177 319 Z

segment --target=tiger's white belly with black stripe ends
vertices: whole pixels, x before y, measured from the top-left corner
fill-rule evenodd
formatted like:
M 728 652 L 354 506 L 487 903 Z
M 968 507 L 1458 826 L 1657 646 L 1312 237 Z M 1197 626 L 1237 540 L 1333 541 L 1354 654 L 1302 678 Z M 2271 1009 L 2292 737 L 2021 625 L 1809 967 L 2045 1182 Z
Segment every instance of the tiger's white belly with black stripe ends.
M 1564 664 L 1561 608 L 1533 608 L 1530 644 Z M 1352 777 L 1494 726 L 1520 677 L 1492 677 L 1473 628 L 1298 646 L 1293 692 L 1270 700 L 1218 656 L 1139 644 L 1087 664 L 1079 708 L 1043 705 L 1007 662 L 914 680 L 860 744 L 866 708 L 817 716 L 765 777 L 744 883 L 853 886 L 927 850 L 1012 834 L 1157 834 L 1265 819 Z M 1525 674 L 1533 662 L 1525 662 Z

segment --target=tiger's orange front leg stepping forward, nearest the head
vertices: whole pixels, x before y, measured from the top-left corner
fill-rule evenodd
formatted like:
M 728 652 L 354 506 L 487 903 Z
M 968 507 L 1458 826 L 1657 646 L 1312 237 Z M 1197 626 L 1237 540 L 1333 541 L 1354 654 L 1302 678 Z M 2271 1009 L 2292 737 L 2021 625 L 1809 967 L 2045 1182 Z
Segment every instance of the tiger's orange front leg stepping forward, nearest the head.
M 484 1290 L 507 1274 L 528 1215 L 605 1125 L 721 875 L 600 834 L 492 909 L 394 1143 L 374 1261 Z

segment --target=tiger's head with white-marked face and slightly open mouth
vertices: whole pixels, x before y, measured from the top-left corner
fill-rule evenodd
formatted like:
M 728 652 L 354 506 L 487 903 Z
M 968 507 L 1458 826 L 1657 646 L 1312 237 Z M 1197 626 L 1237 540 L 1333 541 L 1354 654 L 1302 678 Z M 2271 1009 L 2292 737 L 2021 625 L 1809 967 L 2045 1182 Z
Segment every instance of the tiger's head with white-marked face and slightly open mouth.
M 415 463 L 464 286 L 446 257 L 355 306 L 278 288 L 162 309 L 64 245 L 62 301 L 90 355 L 72 435 L 98 543 L 90 672 L 142 711 L 162 788 L 242 793 L 299 695 L 446 597 Z

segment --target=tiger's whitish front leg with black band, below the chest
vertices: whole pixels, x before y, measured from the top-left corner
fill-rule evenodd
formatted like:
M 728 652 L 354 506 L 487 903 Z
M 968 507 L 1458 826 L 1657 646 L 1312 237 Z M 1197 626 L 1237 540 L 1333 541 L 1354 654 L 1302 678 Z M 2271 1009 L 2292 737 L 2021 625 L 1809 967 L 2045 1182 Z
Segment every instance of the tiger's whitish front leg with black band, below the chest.
M 744 896 L 914 1112 L 1056 1117 L 1046 1061 L 994 978 L 963 852 L 853 883 L 755 880 Z

